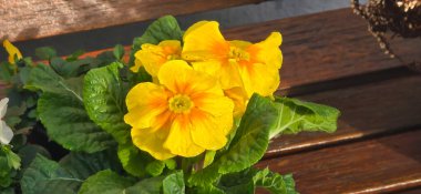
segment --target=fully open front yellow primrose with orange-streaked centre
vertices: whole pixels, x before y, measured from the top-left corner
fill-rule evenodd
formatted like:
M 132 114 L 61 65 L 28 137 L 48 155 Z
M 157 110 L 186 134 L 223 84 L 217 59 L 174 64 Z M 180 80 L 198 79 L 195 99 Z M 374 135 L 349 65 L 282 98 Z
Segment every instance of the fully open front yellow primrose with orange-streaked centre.
M 164 63 L 160 84 L 144 82 L 127 94 L 133 143 L 157 160 L 219 150 L 233 126 L 234 103 L 218 81 L 183 60 Z

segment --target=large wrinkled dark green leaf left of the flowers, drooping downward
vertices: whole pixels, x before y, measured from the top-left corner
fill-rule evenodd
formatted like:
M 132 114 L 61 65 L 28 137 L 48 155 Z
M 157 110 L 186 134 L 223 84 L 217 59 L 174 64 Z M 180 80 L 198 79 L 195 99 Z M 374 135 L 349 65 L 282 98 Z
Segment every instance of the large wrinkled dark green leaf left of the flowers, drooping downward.
M 64 80 L 51 68 L 38 65 L 27 88 L 43 92 L 38 113 L 50 139 L 65 149 L 93 153 L 107 149 L 114 141 L 88 116 L 81 96 L 82 81 L 82 78 Z

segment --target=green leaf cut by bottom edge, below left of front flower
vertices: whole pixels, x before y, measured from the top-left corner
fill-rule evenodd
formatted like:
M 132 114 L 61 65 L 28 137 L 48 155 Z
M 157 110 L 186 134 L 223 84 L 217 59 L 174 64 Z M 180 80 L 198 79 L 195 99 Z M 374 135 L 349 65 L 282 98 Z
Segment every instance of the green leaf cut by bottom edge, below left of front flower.
M 133 177 L 124 177 L 105 170 L 89 177 L 82 185 L 79 194 L 160 194 L 163 177 L 145 178 L 135 183 Z

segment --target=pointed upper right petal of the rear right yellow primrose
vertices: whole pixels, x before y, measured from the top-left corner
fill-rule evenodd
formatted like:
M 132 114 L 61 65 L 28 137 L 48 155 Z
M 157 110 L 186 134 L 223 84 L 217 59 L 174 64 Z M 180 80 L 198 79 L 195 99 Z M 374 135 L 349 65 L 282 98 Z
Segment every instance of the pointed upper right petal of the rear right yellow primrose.
M 283 35 L 279 32 L 273 32 L 266 40 L 250 45 L 247 51 L 251 53 L 255 62 L 274 65 L 279 69 L 283 64 L 283 53 L 279 49 L 281 43 Z

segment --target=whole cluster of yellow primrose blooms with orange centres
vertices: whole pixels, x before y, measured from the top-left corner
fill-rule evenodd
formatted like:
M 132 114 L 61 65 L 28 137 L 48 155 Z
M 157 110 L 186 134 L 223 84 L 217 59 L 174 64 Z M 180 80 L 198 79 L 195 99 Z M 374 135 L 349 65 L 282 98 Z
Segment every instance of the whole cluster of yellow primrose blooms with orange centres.
M 192 157 L 227 143 L 234 118 L 253 93 L 271 96 L 279 84 L 281 34 L 258 43 L 227 41 L 216 21 L 193 24 L 177 40 L 143 44 L 135 53 L 153 82 L 127 94 L 133 143 L 157 160 Z

